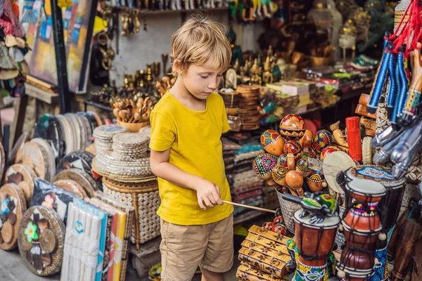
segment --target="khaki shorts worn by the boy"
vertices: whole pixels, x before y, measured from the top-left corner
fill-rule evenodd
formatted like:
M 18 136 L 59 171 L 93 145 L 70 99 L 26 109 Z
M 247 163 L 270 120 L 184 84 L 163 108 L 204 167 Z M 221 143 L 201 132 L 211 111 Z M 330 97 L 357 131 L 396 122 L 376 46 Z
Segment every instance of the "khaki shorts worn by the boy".
M 161 278 L 191 280 L 198 266 L 224 273 L 233 266 L 233 214 L 203 226 L 179 226 L 161 220 Z

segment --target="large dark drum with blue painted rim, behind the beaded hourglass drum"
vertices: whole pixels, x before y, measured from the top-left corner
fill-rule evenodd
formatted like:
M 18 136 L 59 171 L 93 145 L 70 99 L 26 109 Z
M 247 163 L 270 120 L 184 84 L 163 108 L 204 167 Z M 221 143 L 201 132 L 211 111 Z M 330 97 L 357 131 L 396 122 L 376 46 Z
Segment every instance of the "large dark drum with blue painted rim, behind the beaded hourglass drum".
M 345 180 L 347 182 L 354 179 L 368 179 L 377 181 L 384 185 L 387 191 L 381 202 L 378 204 L 381 210 L 381 222 L 383 225 L 382 233 L 388 233 L 395 225 L 399 216 L 400 207 L 406 185 L 406 178 L 395 180 L 392 176 L 392 169 L 386 166 L 363 165 L 354 166 L 345 171 Z M 376 244 L 376 258 L 381 266 L 378 266 L 371 277 L 371 280 L 387 280 L 387 240 L 378 241 Z

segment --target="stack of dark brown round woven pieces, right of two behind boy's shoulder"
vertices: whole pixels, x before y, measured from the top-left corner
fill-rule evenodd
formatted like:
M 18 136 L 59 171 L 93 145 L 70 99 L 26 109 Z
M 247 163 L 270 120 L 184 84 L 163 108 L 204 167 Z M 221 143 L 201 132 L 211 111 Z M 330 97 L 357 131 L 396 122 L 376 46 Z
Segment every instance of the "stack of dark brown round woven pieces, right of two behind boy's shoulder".
M 238 86 L 236 91 L 241 94 L 239 103 L 239 116 L 241 117 L 242 130 L 260 129 L 260 112 L 257 105 L 260 101 L 259 86 Z

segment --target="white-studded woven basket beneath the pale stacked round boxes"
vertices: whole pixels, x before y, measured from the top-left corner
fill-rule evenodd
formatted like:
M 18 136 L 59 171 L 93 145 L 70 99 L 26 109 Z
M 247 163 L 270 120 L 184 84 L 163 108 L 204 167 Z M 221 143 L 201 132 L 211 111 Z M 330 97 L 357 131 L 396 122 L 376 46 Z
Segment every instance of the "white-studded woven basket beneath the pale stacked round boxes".
M 103 192 L 115 200 L 135 209 L 135 223 L 132 228 L 132 243 L 139 249 L 145 243 L 160 235 L 160 207 L 157 179 L 145 183 L 120 183 L 103 178 Z

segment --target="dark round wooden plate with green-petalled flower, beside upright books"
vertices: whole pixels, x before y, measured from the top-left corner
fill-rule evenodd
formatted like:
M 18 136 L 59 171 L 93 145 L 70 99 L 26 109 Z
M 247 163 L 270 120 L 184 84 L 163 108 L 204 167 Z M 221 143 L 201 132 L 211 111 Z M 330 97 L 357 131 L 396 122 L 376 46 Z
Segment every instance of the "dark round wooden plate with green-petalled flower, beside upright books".
M 20 256 L 34 274 L 50 276 L 63 261 L 65 224 L 53 209 L 30 207 L 23 214 L 18 233 Z

